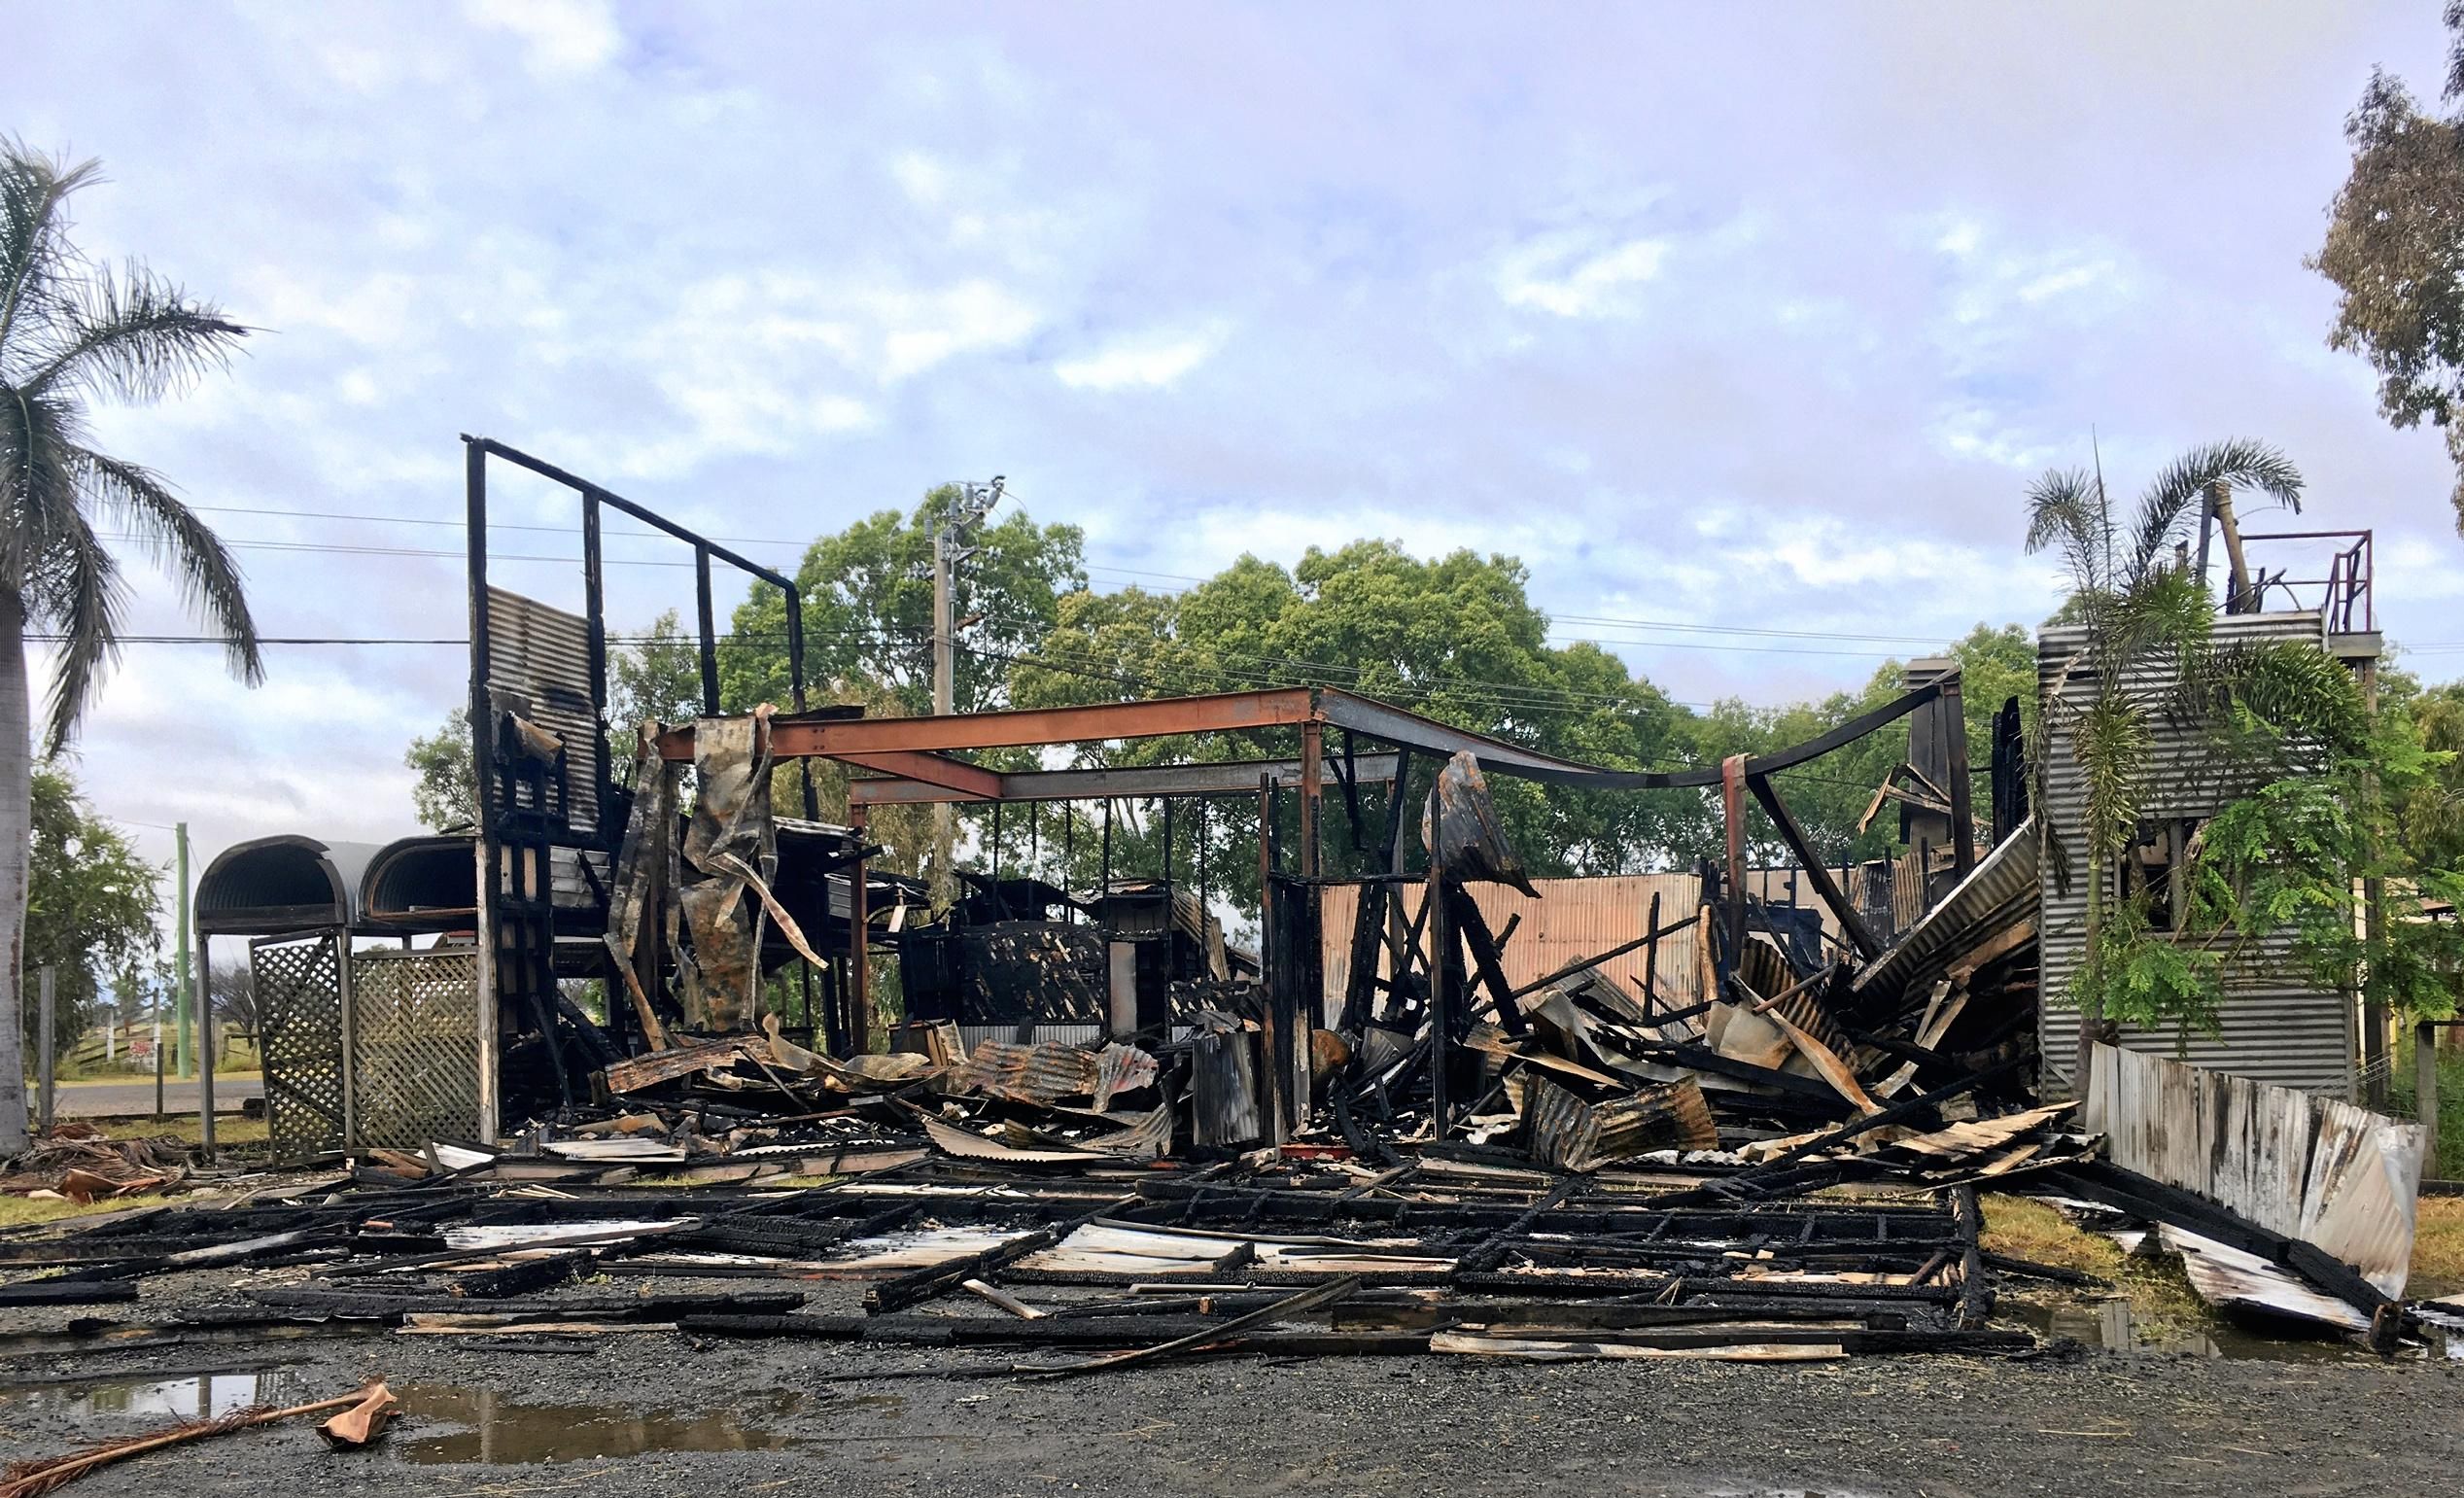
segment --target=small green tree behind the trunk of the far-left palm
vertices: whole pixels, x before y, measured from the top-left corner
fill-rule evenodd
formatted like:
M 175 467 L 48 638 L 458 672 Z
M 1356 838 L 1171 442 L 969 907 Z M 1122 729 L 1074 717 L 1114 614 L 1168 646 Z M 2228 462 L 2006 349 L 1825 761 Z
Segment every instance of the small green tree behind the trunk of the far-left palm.
M 27 848 L 25 971 L 52 968 L 52 1045 L 69 1055 L 94 1025 L 103 983 L 160 944 L 163 867 L 128 833 L 94 816 L 64 769 L 37 769 Z M 25 1042 L 39 1015 L 27 1005 Z

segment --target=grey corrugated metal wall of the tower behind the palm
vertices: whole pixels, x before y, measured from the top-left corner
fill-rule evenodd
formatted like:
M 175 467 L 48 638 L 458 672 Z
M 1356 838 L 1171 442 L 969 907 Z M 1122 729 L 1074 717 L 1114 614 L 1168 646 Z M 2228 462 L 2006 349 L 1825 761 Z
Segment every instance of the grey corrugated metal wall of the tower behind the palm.
M 2038 636 L 2038 690 L 2050 695 L 2062 663 L 2080 650 L 2087 633 L 2077 626 L 2048 628 Z M 2218 643 L 2259 641 L 2316 641 L 2326 648 L 2326 628 L 2319 613 L 2237 613 L 2215 621 Z M 2151 663 L 2126 678 L 2129 687 L 2149 702 L 2158 702 L 2173 675 L 2166 665 Z M 2062 685 L 2065 695 L 2082 702 L 2092 695 L 2085 680 Z M 2075 848 L 2075 828 L 2085 803 L 2085 786 L 2077 764 L 2070 759 L 2067 734 L 2053 724 L 2053 751 L 2045 766 L 2045 803 L 2038 816 L 2050 818 L 2065 845 Z M 2149 796 L 2149 816 L 2205 816 L 2230 798 L 2208 754 L 2200 732 L 2166 722 L 2156 715 L 2154 754 L 2171 766 L 2156 776 Z M 2070 978 L 2087 953 L 2087 880 L 2072 852 L 2072 880 L 2065 894 L 2055 870 L 2038 875 L 2038 953 L 2043 963 L 2043 1005 L 2038 1010 L 2038 1037 L 2043 1042 L 2043 1089 L 2067 1094 L 2077 1057 L 2080 1013 L 2070 1003 Z M 2114 872 L 2104 870 L 2107 892 L 2114 889 Z M 2122 1045 L 2139 1052 L 2178 1055 L 2195 1067 L 2232 1072 L 2296 1087 L 2301 1091 L 2353 1091 L 2353 1000 L 2346 993 L 2321 993 L 2292 958 L 2292 936 L 2277 934 L 2257 939 L 2242 949 L 2225 971 L 2225 1000 L 2220 1008 L 2220 1032 L 2188 1037 L 2173 1030 L 2122 1027 Z

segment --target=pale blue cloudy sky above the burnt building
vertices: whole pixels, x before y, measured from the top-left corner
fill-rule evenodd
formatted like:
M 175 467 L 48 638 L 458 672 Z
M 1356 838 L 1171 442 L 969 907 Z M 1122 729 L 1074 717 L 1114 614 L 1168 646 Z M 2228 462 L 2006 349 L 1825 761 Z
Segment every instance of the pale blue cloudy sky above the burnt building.
M 261 328 L 108 443 L 274 636 L 458 636 L 461 446 L 786 567 L 949 478 L 1099 586 L 1242 549 L 1513 552 L 1560 638 L 1784 700 L 2035 621 L 2030 476 L 2264 436 L 2464 673 L 2452 483 L 2301 269 L 2437 5 L 27 7 L 0 131 L 103 158 L 81 237 Z M 579 604 L 505 485 L 500 577 Z M 2284 517 L 2262 517 L 2279 527 Z M 692 574 L 611 542 L 614 623 Z M 140 631 L 185 631 L 133 562 Z M 1676 626 L 1676 628 L 1671 628 Z M 1774 631 L 1774 633 L 1732 633 Z M 2442 646 L 2447 650 L 2442 650 Z M 81 744 L 168 852 L 411 830 L 458 648 L 133 646 Z

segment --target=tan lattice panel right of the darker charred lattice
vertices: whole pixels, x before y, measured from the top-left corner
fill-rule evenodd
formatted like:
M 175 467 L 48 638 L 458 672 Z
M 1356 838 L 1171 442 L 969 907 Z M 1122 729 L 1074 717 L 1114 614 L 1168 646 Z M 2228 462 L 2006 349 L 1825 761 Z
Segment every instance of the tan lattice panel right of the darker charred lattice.
M 360 1143 L 478 1138 L 478 953 L 362 951 L 350 998 Z

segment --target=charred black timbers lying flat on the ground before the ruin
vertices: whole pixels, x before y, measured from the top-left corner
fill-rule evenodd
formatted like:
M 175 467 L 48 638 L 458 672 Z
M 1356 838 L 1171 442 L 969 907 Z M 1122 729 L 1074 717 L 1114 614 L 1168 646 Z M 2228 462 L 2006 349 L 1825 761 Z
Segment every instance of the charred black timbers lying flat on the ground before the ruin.
M 2001 1353 L 2033 1338 L 1986 1326 L 1996 1276 L 2065 1274 L 1984 1252 L 1966 1190 L 1698 1202 L 1651 1175 L 1518 1170 L 1478 1151 L 1387 1170 L 926 1156 L 823 1185 L 697 1190 L 641 1190 L 631 1165 L 559 1183 L 520 1165 L 360 1168 L 5 1244 L 54 1266 L 10 1286 L 42 1286 L 7 1296 L 20 1303 L 128 1303 L 150 1276 L 244 1274 L 222 1303 L 0 1335 L 0 1355 L 382 1330 L 537 1348 L 650 1328 L 1064 1358 L 1003 1365 L 1027 1372 L 1195 1350 Z M 606 1289 L 648 1276 L 658 1294 Z

